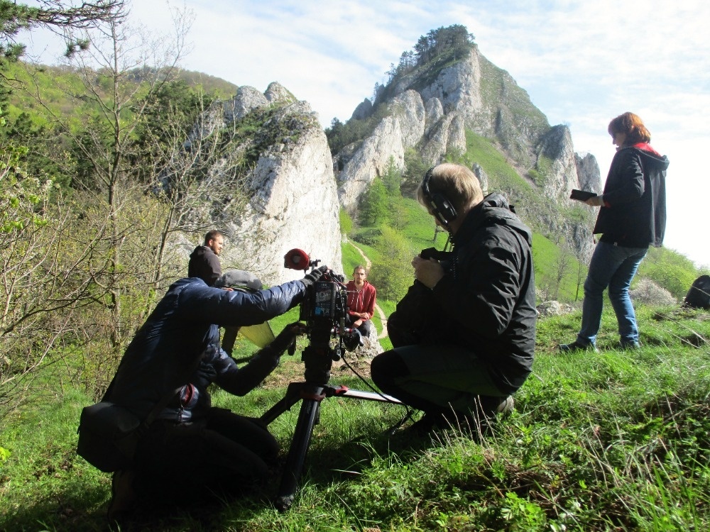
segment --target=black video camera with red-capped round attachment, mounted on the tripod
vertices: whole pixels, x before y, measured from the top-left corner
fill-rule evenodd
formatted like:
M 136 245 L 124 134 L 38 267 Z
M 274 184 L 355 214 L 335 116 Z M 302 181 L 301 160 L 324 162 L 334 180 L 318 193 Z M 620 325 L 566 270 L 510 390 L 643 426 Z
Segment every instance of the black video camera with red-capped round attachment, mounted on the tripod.
M 317 267 L 320 260 L 310 260 L 305 251 L 290 250 L 283 257 L 283 265 L 290 270 L 303 270 Z M 312 345 L 334 347 L 329 349 L 332 360 L 340 360 L 342 350 L 355 350 L 363 345 L 360 331 L 345 326 L 347 316 L 347 292 L 344 275 L 338 275 L 332 270 L 325 272 L 315 283 L 311 284 L 306 297 L 300 306 L 300 321 L 307 325 L 308 338 Z

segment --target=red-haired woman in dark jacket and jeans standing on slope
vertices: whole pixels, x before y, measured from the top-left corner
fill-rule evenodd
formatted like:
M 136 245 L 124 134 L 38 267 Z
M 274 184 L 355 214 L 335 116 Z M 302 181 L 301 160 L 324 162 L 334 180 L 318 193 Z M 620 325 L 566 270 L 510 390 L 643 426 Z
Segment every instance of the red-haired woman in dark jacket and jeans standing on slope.
M 599 206 L 594 234 L 601 233 L 584 281 L 581 329 L 563 352 L 596 350 L 603 293 L 609 290 L 622 348 L 639 347 L 638 325 L 628 289 L 648 246 L 663 243 L 666 222 L 665 177 L 668 158 L 651 148 L 651 134 L 634 113 L 623 113 L 608 126 L 616 155 L 603 194 L 586 200 Z

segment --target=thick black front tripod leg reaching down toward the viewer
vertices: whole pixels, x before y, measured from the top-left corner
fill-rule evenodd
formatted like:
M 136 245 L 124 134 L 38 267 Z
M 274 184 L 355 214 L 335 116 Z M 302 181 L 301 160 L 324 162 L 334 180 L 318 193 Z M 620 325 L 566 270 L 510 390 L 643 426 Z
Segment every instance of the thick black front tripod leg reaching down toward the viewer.
M 317 420 L 319 410 L 319 399 L 302 399 L 293 440 L 291 440 L 283 477 L 281 477 L 281 484 L 278 489 L 278 496 L 275 500 L 275 506 L 278 511 L 286 511 L 293 504 L 293 498 L 303 470 L 308 444 L 310 443 L 313 426 Z

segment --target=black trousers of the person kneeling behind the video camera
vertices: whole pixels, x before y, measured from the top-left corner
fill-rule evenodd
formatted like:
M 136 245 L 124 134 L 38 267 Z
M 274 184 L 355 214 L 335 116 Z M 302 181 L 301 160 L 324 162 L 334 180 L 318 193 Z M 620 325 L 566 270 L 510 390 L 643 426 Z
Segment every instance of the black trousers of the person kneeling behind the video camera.
M 168 504 L 248 494 L 266 481 L 278 452 L 266 428 L 227 409 L 209 409 L 195 423 L 155 421 L 136 453 L 136 492 Z

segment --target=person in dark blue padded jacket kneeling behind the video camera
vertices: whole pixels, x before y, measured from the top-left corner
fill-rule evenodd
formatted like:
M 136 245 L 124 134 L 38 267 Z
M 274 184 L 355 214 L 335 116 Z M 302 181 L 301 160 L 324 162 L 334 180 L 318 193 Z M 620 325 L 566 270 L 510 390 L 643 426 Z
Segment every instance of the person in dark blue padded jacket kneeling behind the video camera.
M 170 286 L 121 359 L 104 400 L 146 419 L 161 397 L 175 397 L 138 442 L 131 470 L 114 473 L 109 519 L 141 504 L 189 504 L 248 493 L 268 477 L 279 446 L 256 419 L 212 406 L 207 387 L 242 396 L 278 365 L 303 332 L 292 323 L 243 367 L 219 345 L 219 326 L 256 325 L 299 304 L 327 267 L 303 279 L 258 291 L 227 291 L 199 278 Z M 261 286 L 261 282 L 258 282 Z

